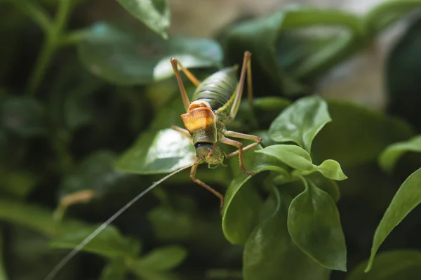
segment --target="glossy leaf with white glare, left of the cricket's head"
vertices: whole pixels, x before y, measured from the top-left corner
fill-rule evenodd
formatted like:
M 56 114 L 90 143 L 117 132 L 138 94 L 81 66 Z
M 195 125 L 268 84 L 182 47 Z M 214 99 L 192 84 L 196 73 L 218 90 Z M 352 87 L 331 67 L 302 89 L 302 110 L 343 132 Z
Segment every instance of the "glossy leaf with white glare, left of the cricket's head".
M 171 128 L 147 131 L 119 158 L 116 168 L 125 173 L 169 173 L 194 162 L 196 151 L 182 134 Z

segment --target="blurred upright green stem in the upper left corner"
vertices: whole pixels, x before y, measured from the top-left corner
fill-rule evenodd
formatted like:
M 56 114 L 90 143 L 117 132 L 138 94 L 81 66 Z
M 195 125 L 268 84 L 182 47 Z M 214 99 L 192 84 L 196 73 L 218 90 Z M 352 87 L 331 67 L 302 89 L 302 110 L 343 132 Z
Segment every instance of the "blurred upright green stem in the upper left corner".
M 36 60 L 32 74 L 29 77 L 27 85 L 27 95 L 34 95 L 39 88 L 44 74 L 51 64 L 51 60 L 59 44 L 62 32 L 65 29 L 67 19 L 72 8 L 72 0 L 60 0 L 58 11 L 55 19 L 50 23 L 50 27 L 46 29 L 44 44 L 41 47 L 39 56 Z

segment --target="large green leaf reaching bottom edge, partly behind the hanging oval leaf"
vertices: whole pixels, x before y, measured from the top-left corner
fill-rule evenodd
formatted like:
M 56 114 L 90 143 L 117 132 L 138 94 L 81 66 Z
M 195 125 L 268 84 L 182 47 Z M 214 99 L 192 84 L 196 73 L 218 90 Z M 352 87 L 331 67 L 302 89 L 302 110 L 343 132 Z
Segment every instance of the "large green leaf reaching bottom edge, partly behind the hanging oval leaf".
M 243 253 L 243 279 L 328 280 L 330 270 L 302 253 L 290 238 L 287 213 L 290 198 L 274 188 L 267 200 L 272 213 L 250 234 Z

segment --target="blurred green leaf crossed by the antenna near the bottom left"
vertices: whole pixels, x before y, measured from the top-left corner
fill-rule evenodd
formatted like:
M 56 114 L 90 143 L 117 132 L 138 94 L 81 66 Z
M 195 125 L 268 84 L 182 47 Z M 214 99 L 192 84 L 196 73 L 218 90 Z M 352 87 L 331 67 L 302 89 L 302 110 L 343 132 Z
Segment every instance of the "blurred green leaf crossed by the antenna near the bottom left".
M 83 227 L 81 229 L 73 230 L 72 232 L 65 232 L 53 238 L 50 242 L 50 246 L 53 248 L 73 249 L 95 229 L 97 229 L 97 226 Z M 139 253 L 140 244 L 135 239 L 121 236 L 116 227 L 108 225 L 81 250 L 103 255 L 105 257 L 134 258 Z

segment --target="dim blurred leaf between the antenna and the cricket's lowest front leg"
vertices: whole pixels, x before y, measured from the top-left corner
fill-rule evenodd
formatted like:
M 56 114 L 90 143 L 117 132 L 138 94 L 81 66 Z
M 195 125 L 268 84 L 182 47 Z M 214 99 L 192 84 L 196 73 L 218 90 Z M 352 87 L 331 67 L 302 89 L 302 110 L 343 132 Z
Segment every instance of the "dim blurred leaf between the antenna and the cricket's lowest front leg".
M 156 237 L 163 240 L 184 240 L 192 234 L 192 218 L 187 213 L 158 206 L 147 213 Z M 171 229 L 171 230 L 170 230 Z

